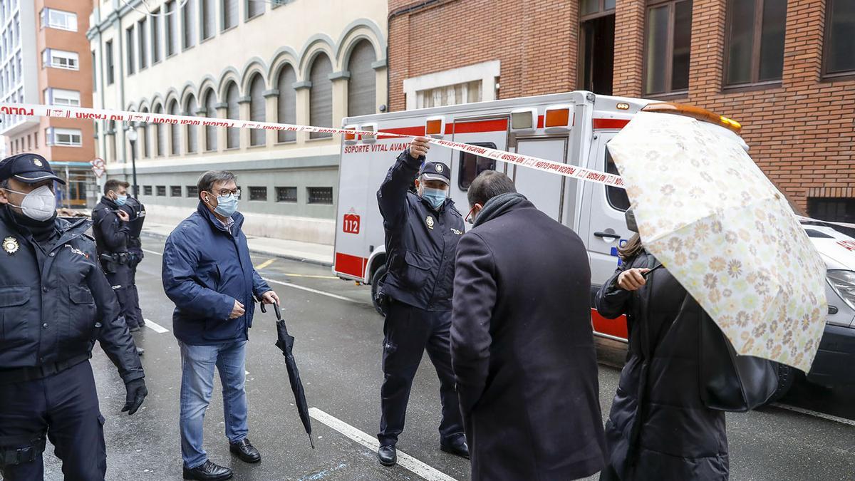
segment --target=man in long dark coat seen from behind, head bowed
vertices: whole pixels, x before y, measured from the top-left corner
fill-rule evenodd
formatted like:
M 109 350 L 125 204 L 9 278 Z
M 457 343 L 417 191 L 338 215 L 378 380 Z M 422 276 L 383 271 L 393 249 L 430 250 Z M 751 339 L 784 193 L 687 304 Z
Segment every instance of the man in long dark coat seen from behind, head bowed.
M 472 479 L 590 476 L 606 450 L 585 246 L 500 172 L 475 178 L 469 205 L 451 360 Z

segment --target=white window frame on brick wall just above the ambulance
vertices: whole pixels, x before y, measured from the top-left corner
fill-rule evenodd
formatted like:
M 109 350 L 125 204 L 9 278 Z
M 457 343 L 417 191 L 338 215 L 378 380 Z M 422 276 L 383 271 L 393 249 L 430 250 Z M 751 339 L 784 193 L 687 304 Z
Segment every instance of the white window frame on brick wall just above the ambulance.
M 404 80 L 404 94 L 407 96 L 407 110 L 417 109 L 418 92 L 441 86 L 454 86 L 481 80 L 481 101 L 496 99 L 496 78 L 502 64 L 498 60 L 475 63 L 461 68 L 451 68 L 442 72 L 420 75 Z

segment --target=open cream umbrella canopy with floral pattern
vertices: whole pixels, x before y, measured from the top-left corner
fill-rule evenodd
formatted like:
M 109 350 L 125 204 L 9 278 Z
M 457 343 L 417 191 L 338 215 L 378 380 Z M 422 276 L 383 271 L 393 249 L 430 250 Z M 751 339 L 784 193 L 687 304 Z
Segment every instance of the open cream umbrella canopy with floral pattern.
M 809 371 L 828 310 L 825 264 L 733 132 L 640 112 L 609 143 L 646 249 L 737 353 Z

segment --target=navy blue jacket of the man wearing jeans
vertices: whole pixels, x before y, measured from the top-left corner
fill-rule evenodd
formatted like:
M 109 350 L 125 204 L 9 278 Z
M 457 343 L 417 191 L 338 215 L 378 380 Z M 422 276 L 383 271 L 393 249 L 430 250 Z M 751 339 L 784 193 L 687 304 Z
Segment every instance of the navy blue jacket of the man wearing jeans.
M 163 249 L 163 290 L 175 303 L 173 330 L 187 344 L 245 341 L 255 311 L 253 296 L 260 299 L 271 290 L 252 267 L 240 229 L 244 217 L 235 212 L 232 218 L 229 232 L 199 202 L 196 212 L 172 231 Z M 234 300 L 246 312 L 229 319 Z

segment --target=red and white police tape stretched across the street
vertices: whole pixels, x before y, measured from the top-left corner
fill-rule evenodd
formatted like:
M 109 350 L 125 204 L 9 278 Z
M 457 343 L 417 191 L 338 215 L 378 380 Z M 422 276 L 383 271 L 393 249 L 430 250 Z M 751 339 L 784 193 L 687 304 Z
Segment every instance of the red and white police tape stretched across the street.
M 294 125 L 288 123 L 252 122 L 245 120 L 221 119 L 213 117 L 172 116 L 168 114 L 153 114 L 150 112 L 127 112 L 121 110 L 85 109 L 83 107 L 62 107 L 40 104 L 9 104 L 0 103 L 0 114 L 11 116 L 45 116 L 81 120 L 105 120 L 117 122 L 147 122 L 168 123 L 178 125 L 198 125 L 203 127 L 226 128 L 260 128 L 263 130 L 280 130 L 285 132 L 315 132 L 317 134 L 350 134 L 363 137 L 401 138 L 412 135 L 390 134 L 383 131 L 363 131 L 345 128 L 312 127 L 309 125 Z M 428 137 L 429 138 L 429 137 Z M 563 175 L 571 179 L 596 182 L 612 187 L 624 187 L 619 175 L 608 174 L 599 170 L 586 169 L 567 163 L 554 162 L 545 158 L 531 157 L 508 151 L 499 151 L 480 145 L 462 144 L 450 140 L 430 138 L 433 145 L 441 145 L 456 151 L 474 153 L 481 157 L 492 158 L 501 162 L 514 163 L 529 169 L 542 170 L 553 174 Z

